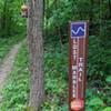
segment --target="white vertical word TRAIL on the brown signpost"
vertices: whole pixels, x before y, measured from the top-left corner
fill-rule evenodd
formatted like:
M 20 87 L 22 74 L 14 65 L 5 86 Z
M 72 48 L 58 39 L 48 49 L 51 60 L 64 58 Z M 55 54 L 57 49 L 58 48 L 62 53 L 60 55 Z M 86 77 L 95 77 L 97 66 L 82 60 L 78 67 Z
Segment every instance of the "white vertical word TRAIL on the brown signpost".
M 79 82 L 82 82 L 82 73 L 83 73 L 83 58 L 79 58 Z

